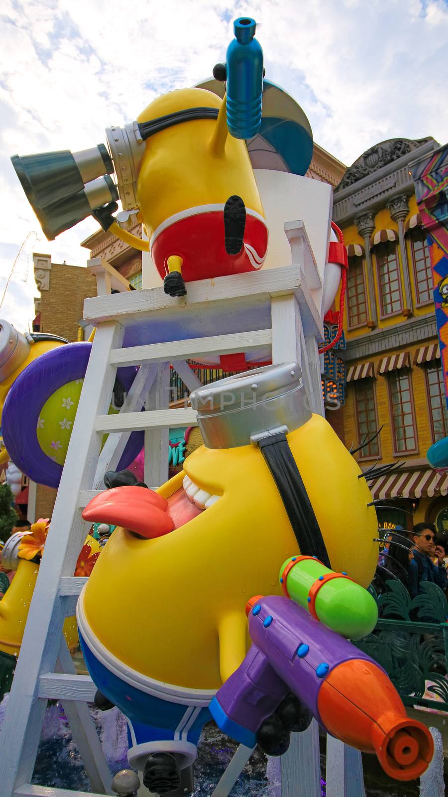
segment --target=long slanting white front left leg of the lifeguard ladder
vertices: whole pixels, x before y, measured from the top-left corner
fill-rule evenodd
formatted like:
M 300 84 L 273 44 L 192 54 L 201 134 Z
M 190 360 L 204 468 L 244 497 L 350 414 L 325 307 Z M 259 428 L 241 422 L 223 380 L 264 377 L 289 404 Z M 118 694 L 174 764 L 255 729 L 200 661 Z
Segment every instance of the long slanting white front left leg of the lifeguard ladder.
M 102 324 L 96 329 L 92 344 L 0 732 L 0 783 L 4 795 L 14 794 L 16 787 L 29 783 L 33 776 L 46 706 L 45 699 L 37 699 L 39 677 L 54 667 L 59 652 L 65 618 L 65 601 L 57 597 L 59 586 L 62 576 L 73 574 L 85 539 L 86 524 L 81 521 L 78 496 L 92 485 L 95 475 L 101 440 L 94 429 L 94 419 L 108 411 L 116 377 L 108 357 L 112 348 L 122 344 L 123 336 L 120 324 Z

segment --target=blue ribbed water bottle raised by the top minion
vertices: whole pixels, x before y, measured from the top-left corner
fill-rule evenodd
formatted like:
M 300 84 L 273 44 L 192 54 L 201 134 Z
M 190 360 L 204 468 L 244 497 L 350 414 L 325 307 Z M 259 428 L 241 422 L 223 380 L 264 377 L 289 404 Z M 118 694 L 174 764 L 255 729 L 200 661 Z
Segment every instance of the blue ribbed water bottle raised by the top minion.
M 235 38 L 227 48 L 227 127 L 235 139 L 253 138 L 261 124 L 263 50 L 253 38 L 255 28 L 254 19 L 236 19 Z

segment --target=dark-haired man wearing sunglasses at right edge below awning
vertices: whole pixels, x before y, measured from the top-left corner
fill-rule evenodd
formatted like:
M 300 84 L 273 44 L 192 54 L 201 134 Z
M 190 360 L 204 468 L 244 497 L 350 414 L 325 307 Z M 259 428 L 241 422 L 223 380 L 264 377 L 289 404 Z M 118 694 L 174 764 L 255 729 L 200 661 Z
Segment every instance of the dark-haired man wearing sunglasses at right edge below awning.
M 445 551 L 441 545 L 435 544 L 435 526 L 432 523 L 418 523 L 410 533 L 415 545 L 414 559 L 409 563 L 409 591 L 411 597 L 419 595 L 420 584 L 431 581 L 445 591 L 448 583 L 445 563 Z M 437 557 L 437 563 L 433 559 Z M 434 622 L 428 618 L 427 622 Z M 437 621 L 436 621 L 437 622 Z

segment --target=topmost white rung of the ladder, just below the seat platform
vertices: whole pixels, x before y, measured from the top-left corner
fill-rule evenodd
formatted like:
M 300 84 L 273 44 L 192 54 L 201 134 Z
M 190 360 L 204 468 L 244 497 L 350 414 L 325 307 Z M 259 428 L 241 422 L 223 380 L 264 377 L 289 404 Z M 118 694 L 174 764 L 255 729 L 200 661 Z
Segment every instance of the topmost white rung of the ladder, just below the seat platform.
M 143 363 L 175 363 L 178 359 L 201 359 L 203 355 L 235 354 L 272 344 L 270 329 L 253 332 L 234 332 L 190 340 L 172 340 L 162 344 L 132 346 L 111 351 L 112 365 L 140 365 Z

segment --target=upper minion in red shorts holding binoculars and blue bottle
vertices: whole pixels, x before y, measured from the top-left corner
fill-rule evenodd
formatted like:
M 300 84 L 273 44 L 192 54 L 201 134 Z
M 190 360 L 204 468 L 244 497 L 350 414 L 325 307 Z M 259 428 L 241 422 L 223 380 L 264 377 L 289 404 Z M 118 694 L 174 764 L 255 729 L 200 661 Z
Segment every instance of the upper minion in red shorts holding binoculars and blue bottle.
M 223 98 L 203 88 L 169 92 L 135 122 L 107 128 L 108 150 L 13 156 L 49 240 L 92 214 L 151 252 L 171 296 L 183 296 L 186 281 L 261 268 L 268 229 L 246 147 L 261 126 L 264 90 L 255 29 L 251 18 L 234 22 L 226 65 L 214 69 L 226 82 Z M 119 197 L 124 210 L 114 218 Z M 147 241 L 128 231 L 136 220 Z

